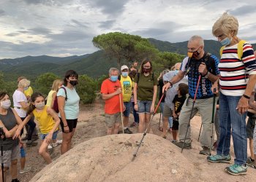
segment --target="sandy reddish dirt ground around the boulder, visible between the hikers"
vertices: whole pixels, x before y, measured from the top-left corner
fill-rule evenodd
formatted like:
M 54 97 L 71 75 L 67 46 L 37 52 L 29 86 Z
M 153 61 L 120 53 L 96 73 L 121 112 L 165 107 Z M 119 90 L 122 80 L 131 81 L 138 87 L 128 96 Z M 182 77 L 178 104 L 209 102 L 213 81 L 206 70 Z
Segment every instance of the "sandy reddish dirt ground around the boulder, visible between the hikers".
M 75 136 L 72 140 L 73 146 L 82 143 L 83 141 L 88 141 L 91 138 L 97 138 L 106 135 L 105 132 L 105 121 L 104 121 L 104 108 L 102 100 L 96 100 L 94 104 L 81 106 L 80 115 L 78 119 L 78 127 L 75 132 Z M 130 115 L 130 122 L 133 121 L 132 114 Z M 151 133 L 155 135 L 161 135 L 158 130 L 159 126 L 159 114 L 154 116 Z M 132 132 L 138 132 L 138 127 L 131 128 Z M 195 166 L 198 170 L 195 173 L 203 173 L 200 175 L 200 181 L 255 181 L 256 171 L 252 168 L 248 169 L 247 175 L 233 177 L 224 172 L 224 168 L 227 166 L 225 164 L 209 164 L 206 162 L 206 156 L 198 154 L 200 151 L 200 143 L 197 141 L 198 132 L 200 130 L 200 116 L 195 116 L 192 119 L 192 150 L 184 150 L 183 155 L 187 157 L 189 162 Z M 59 132 L 58 138 L 61 139 L 61 132 Z M 167 135 L 167 141 L 171 141 L 172 137 L 170 133 Z M 27 162 L 26 165 L 32 167 L 31 172 L 24 173 L 23 175 L 18 175 L 20 181 L 29 181 L 36 173 L 42 170 L 46 166 L 46 163 L 37 153 L 39 145 L 31 148 L 27 148 Z M 215 152 L 213 151 L 213 154 Z M 233 154 L 233 149 L 231 151 Z M 54 159 L 60 156 L 60 146 L 51 151 L 51 157 Z M 185 164 L 184 164 L 185 165 Z M 20 165 L 18 165 L 18 170 Z M 216 178 L 209 178 L 209 173 L 215 173 Z

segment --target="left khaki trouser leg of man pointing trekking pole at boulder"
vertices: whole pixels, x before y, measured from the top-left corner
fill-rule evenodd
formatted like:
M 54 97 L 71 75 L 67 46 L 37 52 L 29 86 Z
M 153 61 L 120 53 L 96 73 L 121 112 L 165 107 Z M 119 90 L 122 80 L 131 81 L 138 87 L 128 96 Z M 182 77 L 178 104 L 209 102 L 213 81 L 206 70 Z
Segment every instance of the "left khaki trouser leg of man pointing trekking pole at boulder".
M 187 132 L 188 124 L 190 123 L 189 116 L 192 112 L 192 118 L 193 118 L 195 116 L 195 114 L 197 113 L 197 108 L 196 107 L 194 107 L 193 110 L 192 110 L 192 104 L 193 104 L 192 98 L 187 98 L 187 100 L 185 100 L 184 105 L 182 106 L 181 114 L 178 117 L 178 122 L 179 122 L 178 138 L 179 138 L 180 141 L 183 141 L 183 142 L 184 142 L 185 135 L 186 135 L 186 132 Z M 191 143 L 190 127 L 189 127 L 189 130 L 187 132 L 187 138 L 186 138 L 185 143 Z

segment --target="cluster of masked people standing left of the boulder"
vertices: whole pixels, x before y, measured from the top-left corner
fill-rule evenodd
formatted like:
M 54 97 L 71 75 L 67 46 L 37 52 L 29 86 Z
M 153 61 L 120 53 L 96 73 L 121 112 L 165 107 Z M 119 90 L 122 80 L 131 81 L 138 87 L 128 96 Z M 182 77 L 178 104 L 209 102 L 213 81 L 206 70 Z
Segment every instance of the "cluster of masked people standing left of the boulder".
M 10 169 L 12 181 L 17 178 L 17 163 L 20 159 L 20 174 L 29 172 L 31 167 L 25 167 L 26 150 L 20 135 L 23 127 L 28 124 L 26 146 L 37 146 L 37 138 L 33 140 L 36 122 L 39 124 L 41 144 L 39 154 L 47 164 L 52 162 L 49 149 L 61 144 L 61 154 L 71 149 L 72 137 L 78 122 L 79 96 L 75 90 L 78 84 L 78 74 L 69 70 L 63 81 L 56 79 L 47 100 L 30 87 L 30 81 L 25 77 L 18 78 L 18 89 L 12 95 L 13 106 L 7 92 L 0 92 L 0 133 L 3 154 L 1 163 L 4 165 L 4 181 L 7 170 Z M 28 92 L 29 90 L 29 95 Z M 26 95 L 27 94 L 27 95 Z M 46 104 L 45 104 L 46 103 Z M 34 122 L 34 120 L 36 122 Z M 62 140 L 57 140 L 59 124 L 62 130 Z M 0 173 L 2 179 L 2 173 Z

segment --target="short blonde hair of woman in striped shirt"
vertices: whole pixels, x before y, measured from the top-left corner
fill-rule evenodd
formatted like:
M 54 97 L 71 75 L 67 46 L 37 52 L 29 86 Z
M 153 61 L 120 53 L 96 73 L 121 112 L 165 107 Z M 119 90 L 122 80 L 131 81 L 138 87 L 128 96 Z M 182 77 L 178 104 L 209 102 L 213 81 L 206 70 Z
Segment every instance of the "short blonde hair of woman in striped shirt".
M 214 23 L 212 27 L 212 34 L 214 36 L 219 36 L 216 34 L 216 31 L 220 30 L 225 36 L 228 33 L 233 32 L 233 36 L 236 36 L 238 33 L 238 20 L 233 15 L 228 15 L 227 12 L 223 13 L 221 17 Z

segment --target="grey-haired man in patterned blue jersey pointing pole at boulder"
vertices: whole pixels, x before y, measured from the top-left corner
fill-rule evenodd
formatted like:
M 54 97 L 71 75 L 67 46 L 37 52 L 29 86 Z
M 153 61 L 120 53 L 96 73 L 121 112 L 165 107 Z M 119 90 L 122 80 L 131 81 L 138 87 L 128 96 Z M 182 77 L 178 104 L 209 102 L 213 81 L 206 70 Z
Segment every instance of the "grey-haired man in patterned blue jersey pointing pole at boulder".
M 187 48 L 188 51 L 192 53 L 192 58 L 185 58 L 183 60 L 181 70 L 178 71 L 178 74 L 174 76 L 170 82 L 165 84 L 163 91 L 167 90 L 169 87 L 173 87 L 173 84 L 183 79 L 186 74 L 188 75 L 189 97 L 181 109 L 178 133 L 180 141 L 175 144 L 180 148 L 184 144 L 185 149 L 192 149 L 190 130 L 187 138 L 185 138 L 185 135 L 190 122 L 189 116 L 191 112 L 192 116 L 195 116 L 197 111 L 199 111 L 203 123 L 203 132 L 200 141 L 203 150 L 201 150 L 199 154 L 208 155 L 211 146 L 211 112 L 214 97 L 214 93 L 211 92 L 211 85 L 212 82 L 215 82 L 219 78 L 219 60 L 214 55 L 204 51 L 203 38 L 200 36 L 192 36 L 188 41 Z M 200 82 L 197 89 L 195 107 L 192 108 L 199 78 Z

